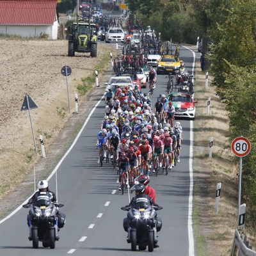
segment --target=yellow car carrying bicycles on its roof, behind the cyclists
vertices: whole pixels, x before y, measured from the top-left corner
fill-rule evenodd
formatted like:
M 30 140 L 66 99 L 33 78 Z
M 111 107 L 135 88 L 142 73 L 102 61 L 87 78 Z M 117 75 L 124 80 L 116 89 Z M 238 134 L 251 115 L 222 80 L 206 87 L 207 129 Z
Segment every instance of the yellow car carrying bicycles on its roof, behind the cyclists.
M 171 73 L 176 74 L 176 71 L 179 70 L 180 63 L 183 62 L 179 60 L 179 57 L 174 55 L 163 55 L 158 61 L 157 65 L 157 74 L 161 73 Z

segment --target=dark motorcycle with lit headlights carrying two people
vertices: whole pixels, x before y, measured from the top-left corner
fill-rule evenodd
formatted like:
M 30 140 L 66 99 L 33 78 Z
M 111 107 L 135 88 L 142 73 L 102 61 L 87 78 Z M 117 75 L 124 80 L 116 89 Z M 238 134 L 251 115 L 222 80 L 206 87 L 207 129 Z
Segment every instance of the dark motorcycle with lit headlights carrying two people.
M 138 245 L 139 250 L 146 250 L 148 246 L 148 252 L 153 252 L 157 243 L 157 232 L 162 228 L 162 220 L 157 217 L 156 211 L 163 207 L 143 202 L 134 207 L 126 205 L 121 209 L 128 211 L 123 227 L 128 233 L 127 243 L 131 243 L 131 250 L 136 251 Z

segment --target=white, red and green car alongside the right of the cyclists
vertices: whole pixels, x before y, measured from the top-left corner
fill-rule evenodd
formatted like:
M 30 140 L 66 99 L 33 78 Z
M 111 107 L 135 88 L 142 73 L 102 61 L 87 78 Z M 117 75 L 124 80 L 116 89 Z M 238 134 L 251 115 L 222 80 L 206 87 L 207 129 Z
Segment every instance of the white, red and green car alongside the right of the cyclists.
M 172 92 L 167 99 L 175 107 L 175 116 L 188 117 L 191 120 L 195 120 L 195 103 L 197 103 L 197 100 L 194 100 L 191 95 L 184 92 Z

